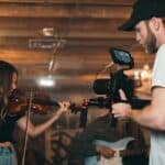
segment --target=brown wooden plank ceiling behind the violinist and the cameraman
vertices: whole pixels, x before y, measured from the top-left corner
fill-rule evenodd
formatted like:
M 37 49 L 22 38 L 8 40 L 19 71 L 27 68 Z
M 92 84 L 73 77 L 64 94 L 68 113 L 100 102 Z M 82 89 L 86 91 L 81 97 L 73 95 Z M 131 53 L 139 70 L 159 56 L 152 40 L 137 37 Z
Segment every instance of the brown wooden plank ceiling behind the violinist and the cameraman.
M 53 91 L 59 99 L 94 95 L 92 81 L 110 63 L 110 47 L 130 51 L 135 68 L 152 66 L 154 56 L 144 55 L 134 34 L 118 31 L 134 1 L 0 0 L 0 59 L 18 67 L 21 87 Z M 48 75 L 56 86 L 38 87 L 36 79 Z

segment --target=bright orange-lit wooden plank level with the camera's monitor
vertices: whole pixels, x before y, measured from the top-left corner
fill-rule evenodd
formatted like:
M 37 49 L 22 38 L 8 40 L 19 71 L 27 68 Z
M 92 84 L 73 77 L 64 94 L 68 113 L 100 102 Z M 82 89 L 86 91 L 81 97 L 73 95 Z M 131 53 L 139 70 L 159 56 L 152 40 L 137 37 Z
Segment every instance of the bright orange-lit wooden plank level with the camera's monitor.
M 78 54 L 78 56 L 77 56 Z M 46 73 L 48 72 L 48 64 L 51 62 L 51 53 L 43 52 L 31 52 L 31 51 L 1 51 L 0 59 L 4 59 L 15 64 L 16 66 L 22 66 L 23 69 L 33 70 L 34 75 L 44 74 L 45 67 Z M 144 56 L 144 53 L 141 52 L 139 55 L 132 53 L 132 56 L 135 62 L 135 67 L 142 67 L 146 62 L 150 66 L 153 64 L 154 55 Z M 77 74 L 87 74 L 87 73 L 98 73 L 110 63 L 110 55 L 108 52 L 95 52 L 95 51 L 84 51 L 84 52 L 59 52 L 56 55 L 55 59 L 57 61 L 57 69 L 54 70 L 55 74 L 62 75 L 73 75 Z M 144 61 L 145 59 L 145 61 Z M 77 75 L 76 74 L 76 75 Z

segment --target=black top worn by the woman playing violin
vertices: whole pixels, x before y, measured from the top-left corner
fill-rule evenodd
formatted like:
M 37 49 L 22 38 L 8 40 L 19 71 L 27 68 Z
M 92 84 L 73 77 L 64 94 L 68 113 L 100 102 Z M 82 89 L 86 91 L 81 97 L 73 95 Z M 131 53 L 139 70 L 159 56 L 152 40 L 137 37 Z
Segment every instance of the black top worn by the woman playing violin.
M 24 113 L 20 114 L 7 114 L 4 120 L 0 120 L 0 143 L 3 142 L 12 142 L 13 143 L 13 131 L 16 121 L 24 116 Z

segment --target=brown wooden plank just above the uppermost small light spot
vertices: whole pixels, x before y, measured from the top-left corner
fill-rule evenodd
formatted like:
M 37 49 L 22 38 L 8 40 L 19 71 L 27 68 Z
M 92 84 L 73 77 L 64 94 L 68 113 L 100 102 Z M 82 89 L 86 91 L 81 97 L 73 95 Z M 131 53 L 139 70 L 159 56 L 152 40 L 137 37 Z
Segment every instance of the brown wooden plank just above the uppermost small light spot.
M 42 30 L 43 28 L 54 28 L 54 31 L 63 29 L 72 30 L 117 30 L 125 22 L 124 19 L 79 19 L 79 18 L 0 18 L 1 29 L 28 29 Z M 88 24 L 88 25 L 86 25 Z

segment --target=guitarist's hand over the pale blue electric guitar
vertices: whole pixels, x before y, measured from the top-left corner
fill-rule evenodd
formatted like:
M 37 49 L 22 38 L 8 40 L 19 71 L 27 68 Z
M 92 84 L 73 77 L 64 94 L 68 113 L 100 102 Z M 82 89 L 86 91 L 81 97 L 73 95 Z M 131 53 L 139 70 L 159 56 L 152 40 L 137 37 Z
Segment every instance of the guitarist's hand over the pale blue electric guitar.
M 106 158 L 113 157 L 114 153 L 116 153 L 116 151 L 113 151 L 112 148 L 107 147 L 105 145 L 100 145 L 100 144 L 98 144 L 96 146 L 96 151 L 97 151 L 97 153 L 99 153 L 100 155 L 102 155 Z

